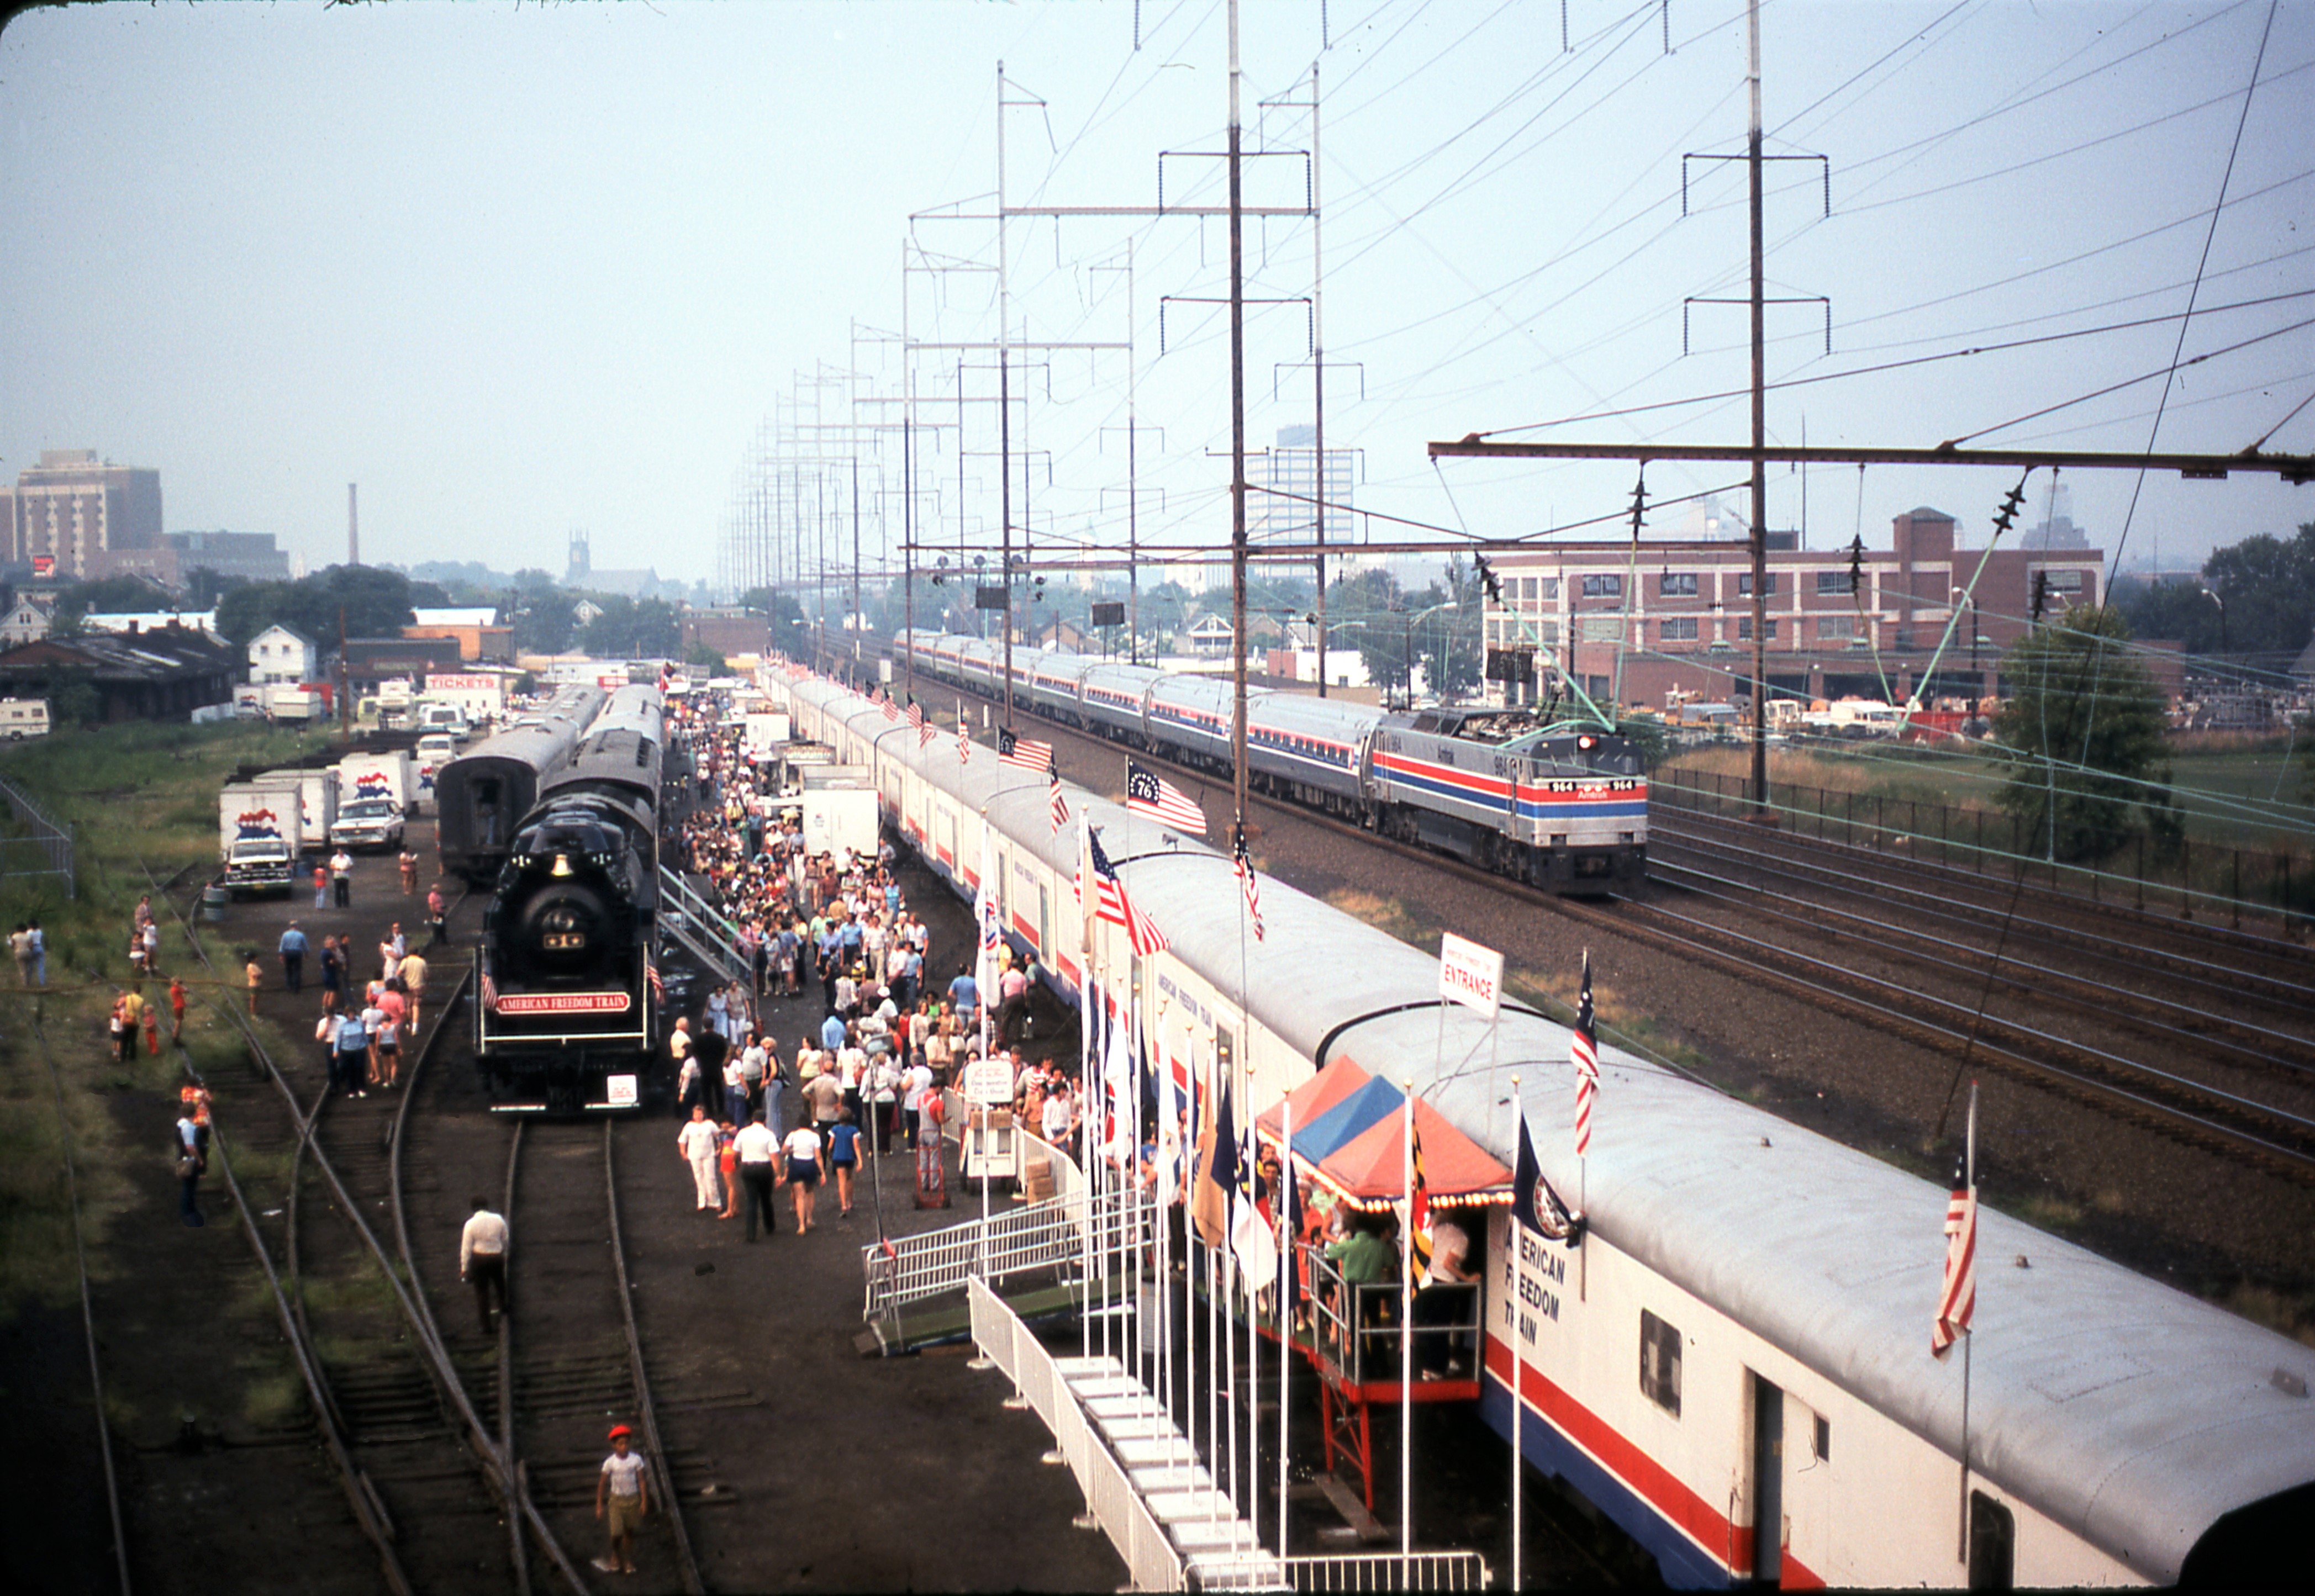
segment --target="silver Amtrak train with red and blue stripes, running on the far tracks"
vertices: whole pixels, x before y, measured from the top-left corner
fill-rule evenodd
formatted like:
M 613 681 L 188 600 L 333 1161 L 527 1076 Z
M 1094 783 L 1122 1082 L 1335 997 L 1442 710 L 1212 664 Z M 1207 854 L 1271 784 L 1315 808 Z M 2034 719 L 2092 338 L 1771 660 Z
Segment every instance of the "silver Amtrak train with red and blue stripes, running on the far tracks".
M 1002 645 L 905 631 L 917 671 L 1005 692 Z M 1086 655 L 1014 650 L 1014 703 L 1229 775 L 1232 685 Z M 1403 842 L 1560 893 L 1630 891 L 1648 867 L 1648 775 L 1611 731 L 1533 710 L 1414 710 L 1245 694 L 1245 779 Z

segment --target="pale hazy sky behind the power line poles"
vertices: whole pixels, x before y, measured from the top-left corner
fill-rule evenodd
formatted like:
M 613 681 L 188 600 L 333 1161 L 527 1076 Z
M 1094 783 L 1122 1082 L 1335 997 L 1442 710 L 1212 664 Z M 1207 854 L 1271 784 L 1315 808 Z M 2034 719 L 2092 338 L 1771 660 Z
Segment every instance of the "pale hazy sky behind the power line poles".
M 998 183 L 998 60 L 1023 102 L 1009 204 L 1148 206 L 1158 150 L 1188 153 L 1164 162 L 1169 201 L 1220 204 L 1220 162 L 1197 153 L 1222 146 L 1225 16 L 1220 0 L 19 14 L 0 35 L 0 472 L 100 449 L 162 472 L 169 530 L 273 532 L 315 564 L 343 557 L 359 481 L 373 560 L 560 571 L 586 527 L 597 567 L 713 576 L 759 426 L 898 421 L 852 400 L 901 393 L 903 317 L 919 345 L 995 338 L 995 231 L 977 217 Z M 1926 446 L 2160 372 L 2197 266 L 2183 354 L 2257 342 L 2178 372 L 2158 444 L 2243 449 L 2315 391 L 2315 7 L 1762 16 L 1769 150 L 1827 155 L 1833 206 L 1815 164 L 1769 169 L 1771 294 L 1829 296 L 1833 322 L 1827 356 L 1822 308 L 1771 308 L 1771 379 L 2114 328 L 1780 389 L 1778 439 Z M 1320 69 L 1326 426 L 1361 451 L 1364 507 L 1495 534 L 1618 516 L 1630 465 L 1433 470 L 1424 444 L 1748 379 L 1741 305 L 1695 305 L 1683 356 L 1683 301 L 1746 287 L 1741 164 L 1690 164 L 1681 215 L 1681 155 L 1743 148 L 1743 7 L 1570 0 L 1567 19 L 1563 53 L 1549 0 L 1245 7 L 1248 148 L 1287 150 L 1250 162 L 1250 204 L 1301 204 L 1308 111 L 1262 102 L 1306 102 Z M 910 241 L 975 271 L 907 273 L 903 310 Z M 1012 338 L 1134 345 L 1130 363 L 1014 356 L 1039 541 L 1123 544 L 1127 372 L 1141 537 L 1222 541 L 1227 328 L 1192 303 L 1227 291 L 1222 224 L 1019 217 L 1005 243 Z M 1313 250 L 1301 217 L 1252 222 L 1245 245 L 1248 294 L 1289 301 L 1250 315 L 1259 446 L 1310 419 Z M 958 361 L 984 400 L 963 407 L 963 504 Z M 998 518 L 989 365 L 914 354 L 921 419 L 945 423 L 919 446 L 919 516 L 951 546 L 958 518 L 968 539 Z M 829 382 L 799 389 L 799 370 Z M 2162 393 L 2123 386 L 1977 442 L 2144 449 Z M 1746 416 L 1734 398 L 1553 435 L 1743 442 Z M 873 557 L 901 518 L 898 435 L 813 437 L 863 451 Z M 2315 407 L 2269 449 L 2315 451 Z M 1648 495 L 1739 479 L 1658 465 Z M 1808 539 L 1861 525 L 1887 544 L 1921 502 L 1982 539 L 2012 479 L 1820 470 Z M 2132 562 L 2315 520 L 2315 488 L 2266 476 L 2151 476 L 2134 513 L 2130 474 L 2070 486 L 2107 551 L 2132 516 Z M 2028 523 L 2046 488 L 2037 474 Z M 1771 523 L 1799 518 L 1801 479 L 1773 474 Z

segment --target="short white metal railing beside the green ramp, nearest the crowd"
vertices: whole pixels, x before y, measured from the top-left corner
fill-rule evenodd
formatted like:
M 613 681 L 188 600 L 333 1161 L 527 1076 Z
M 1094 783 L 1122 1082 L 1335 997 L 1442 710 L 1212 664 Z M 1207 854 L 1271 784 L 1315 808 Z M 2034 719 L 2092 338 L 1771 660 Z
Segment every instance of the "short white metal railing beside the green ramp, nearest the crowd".
M 1148 1247 L 1151 1200 L 1137 1194 L 1130 1203 L 1104 1198 L 1093 1205 L 1090 1249 L 1116 1258 L 1125 1249 Z M 991 1214 L 986 1221 L 924 1231 L 894 1242 L 861 1247 L 863 1300 L 861 1318 L 896 1314 L 910 1302 L 963 1291 L 970 1279 L 1000 1281 L 1037 1270 L 1067 1270 L 1086 1256 L 1086 1198 L 1081 1191 Z

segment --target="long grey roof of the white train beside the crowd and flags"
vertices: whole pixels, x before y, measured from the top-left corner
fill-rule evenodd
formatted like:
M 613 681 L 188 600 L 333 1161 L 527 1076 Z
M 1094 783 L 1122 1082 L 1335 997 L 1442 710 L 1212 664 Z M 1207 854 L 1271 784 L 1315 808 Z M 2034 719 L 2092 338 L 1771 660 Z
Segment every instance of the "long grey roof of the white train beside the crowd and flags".
M 857 712 L 875 715 L 866 701 Z M 1042 786 L 1007 782 L 993 759 L 961 768 L 949 740 L 898 754 L 986 805 L 1016 849 L 1074 872 L 1074 840 L 1053 835 Z M 1579 1170 L 1565 1027 L 1505 1008 L 1491 1036 L 1465 1008 L 1442 1018 L 1435 958 L 1285 881 L 1264 881 L 1269 937 L 1255 941 L 1227 856 L 1190 840 L 1160 847 L 1160 828 L 1127 826 L 1090 793 L 1072 803 L 1104 828 L 1174 958 L 1215 990 L 1243 990 L 1248 1013 L 1303 1057 L 1417 1059 L 1417 1092 L 1507 1166 L 1516 1122 L 1498 1099 L 1519 1073 L 1542 1170 L 1560 1191 L 1588 1191 L 1600 1240 L 1961 1455 L 1961 1358 L 1928 1353 L 1945 1187 L 1609 1045 Z M 1310 981 L 1313 969 L 1359 981 L 1345 990 Z M 2290 1376 L 2315 1376 L 2315 1349 L 1991 1207 L 1979 1214 L 1979 1473 L 2153 1582 L 2178 1580 L 2222 1515 L 2315 1480 L 2315 1402 L 2287 1390 Z

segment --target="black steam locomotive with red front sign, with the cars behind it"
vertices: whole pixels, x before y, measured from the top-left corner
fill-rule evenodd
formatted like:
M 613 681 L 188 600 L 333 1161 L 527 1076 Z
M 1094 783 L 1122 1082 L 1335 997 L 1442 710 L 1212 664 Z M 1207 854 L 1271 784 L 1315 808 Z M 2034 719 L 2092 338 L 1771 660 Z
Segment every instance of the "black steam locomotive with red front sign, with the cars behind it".
M 475 1057 L 505 1113 L 641 1108 L 657 1027 L 664 701 L 623 687 L 516 821 L 482 921 Z

